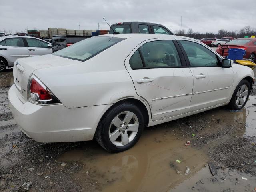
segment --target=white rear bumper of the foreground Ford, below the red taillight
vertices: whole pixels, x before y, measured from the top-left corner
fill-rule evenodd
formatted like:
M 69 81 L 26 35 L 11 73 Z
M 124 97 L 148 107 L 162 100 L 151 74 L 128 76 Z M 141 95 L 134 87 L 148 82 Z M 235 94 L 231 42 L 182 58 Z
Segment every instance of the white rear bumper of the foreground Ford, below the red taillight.
M 19 100 L 13 85 L 10 110 L 20 130 L 37 142 L 92 140 L 98 122 L 109 105 L 66 108 L 62 104 L 40 106 Z

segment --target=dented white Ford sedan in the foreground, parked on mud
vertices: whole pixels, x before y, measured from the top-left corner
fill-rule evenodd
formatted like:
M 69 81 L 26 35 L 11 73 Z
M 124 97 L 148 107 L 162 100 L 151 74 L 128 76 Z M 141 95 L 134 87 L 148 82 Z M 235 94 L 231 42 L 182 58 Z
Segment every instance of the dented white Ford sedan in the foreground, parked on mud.
M 218 106 L 246 104 L 254 73 L 197 40 L 108 34 L 18 59 L 8 98 L 18 126 L 38 142 L 92 140 L 132 147 L 144 126 Z

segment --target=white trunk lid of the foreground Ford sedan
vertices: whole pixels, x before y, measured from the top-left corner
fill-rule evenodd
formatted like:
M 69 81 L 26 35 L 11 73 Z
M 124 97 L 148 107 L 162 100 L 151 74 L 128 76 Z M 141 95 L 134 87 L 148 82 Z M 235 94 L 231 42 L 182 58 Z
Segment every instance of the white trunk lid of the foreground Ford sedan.
M 18 59 L 18 62 L 15 62 L 13 67 L 14 84 L 17 88 L 18 98 L 23 103 L 27 101 L 27 94 L 29 92 L 28 80 L 35 70 L 78 63 L 81 63 L 81 61 L 54 56 L 52 54 Z

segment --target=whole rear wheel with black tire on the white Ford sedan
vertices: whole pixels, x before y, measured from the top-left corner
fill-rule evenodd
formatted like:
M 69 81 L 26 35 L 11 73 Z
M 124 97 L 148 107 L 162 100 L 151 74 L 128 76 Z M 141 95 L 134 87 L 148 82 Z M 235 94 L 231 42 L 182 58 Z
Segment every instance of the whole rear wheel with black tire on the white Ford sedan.
M 140 109 L 134 104 L 124 102 L 104 115 L 95 138 L 108 152 L 122 152 L 138 142 L 143 128 L 144 118 Z

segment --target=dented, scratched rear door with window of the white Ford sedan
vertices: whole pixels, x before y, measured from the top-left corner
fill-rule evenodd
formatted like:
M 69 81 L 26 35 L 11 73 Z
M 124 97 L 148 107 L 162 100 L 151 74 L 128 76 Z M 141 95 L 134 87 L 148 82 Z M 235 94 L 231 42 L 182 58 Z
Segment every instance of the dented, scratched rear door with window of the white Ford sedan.
M 151 107 L 152 120 L 187 113 L 192 95 L 192 74 L 173 40 L 150 40 L 125 60 L 136 92 Z

